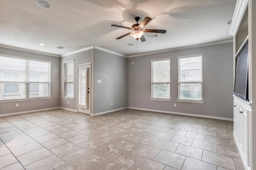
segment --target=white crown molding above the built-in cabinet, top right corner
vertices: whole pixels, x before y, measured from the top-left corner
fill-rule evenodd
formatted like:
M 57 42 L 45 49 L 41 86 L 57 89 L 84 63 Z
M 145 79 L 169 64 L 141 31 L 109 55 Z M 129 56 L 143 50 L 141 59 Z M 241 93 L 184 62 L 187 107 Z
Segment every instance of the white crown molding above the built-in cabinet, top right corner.
M 246 12 L 248 0 L 237 0 L 229 34 L 235 36 Z

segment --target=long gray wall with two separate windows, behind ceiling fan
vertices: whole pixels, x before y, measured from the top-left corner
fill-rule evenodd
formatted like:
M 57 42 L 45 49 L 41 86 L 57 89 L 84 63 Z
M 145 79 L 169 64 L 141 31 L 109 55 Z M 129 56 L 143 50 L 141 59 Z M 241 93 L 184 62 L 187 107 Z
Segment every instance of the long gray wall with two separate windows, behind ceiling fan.
M 178 56 L 203 53 L 204 104 L 180 103 Z M 150 101 L 151 59 L 170 57 L 171 102 Z M 132 61 L 134 64 L 132 65 Z M 127 106 L 141 109 L 233 118 L 233 44 L 226 43 L 127 59 Z M 176 107 L 174 107 L 176 103 Z

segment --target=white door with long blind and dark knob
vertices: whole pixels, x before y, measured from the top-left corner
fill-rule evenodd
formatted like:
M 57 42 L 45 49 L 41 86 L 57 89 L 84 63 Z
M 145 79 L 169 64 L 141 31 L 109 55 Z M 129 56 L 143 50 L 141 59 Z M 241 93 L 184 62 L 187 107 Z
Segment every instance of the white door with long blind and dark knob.
M 90 63 L 78 65 L 78 112 L 91 113 Z

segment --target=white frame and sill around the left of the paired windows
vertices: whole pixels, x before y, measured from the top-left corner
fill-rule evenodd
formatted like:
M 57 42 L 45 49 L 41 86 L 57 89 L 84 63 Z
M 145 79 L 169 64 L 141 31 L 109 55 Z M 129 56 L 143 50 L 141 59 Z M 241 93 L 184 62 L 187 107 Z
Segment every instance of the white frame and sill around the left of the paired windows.
M 169 98 L 168 99 L 166 99 L 166 98 L 153 98 L 153 94 L 152 94 L 152 84 L 159 84 L 159 83 L 154 83 L 154 82 L 152 82 L 152 72 L 154 71 L 153 69 L 152 69 L 152 62 L 155 62 L 155 61 L 169 61 L 169 69 L 170 69 L 170 60 L 171 60 L 171 58 L 161 58 L 161 59 L 152 59 L 152 60 L 150 60 L 150 63 L 151 63 L 151 97 L 150 97 L 150 100 L 151 101 L 172 101 L 171 100 L 171 83 L 170 83 L 170 80 L 171 80 L 171 73 L 170 73 L 170 77 L 169 77 L 169 81 L 168 82 L 165 82 L 165 81 L 163 81 L 163 82 L 161 82 L 161 83 L 167 83 L 168 85 L 169 85 Z M 171 70 L 170 70 L 170 72 L 171 72 Z

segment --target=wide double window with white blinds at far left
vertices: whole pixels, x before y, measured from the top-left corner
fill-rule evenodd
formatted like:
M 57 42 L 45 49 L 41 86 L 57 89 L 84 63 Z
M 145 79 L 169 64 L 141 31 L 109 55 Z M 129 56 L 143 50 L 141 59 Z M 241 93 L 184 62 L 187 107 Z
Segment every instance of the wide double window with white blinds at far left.
M 0 56 L 0 100 L 50 97 L 50 61 Z

